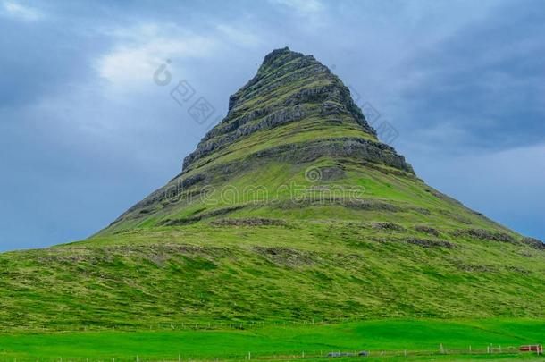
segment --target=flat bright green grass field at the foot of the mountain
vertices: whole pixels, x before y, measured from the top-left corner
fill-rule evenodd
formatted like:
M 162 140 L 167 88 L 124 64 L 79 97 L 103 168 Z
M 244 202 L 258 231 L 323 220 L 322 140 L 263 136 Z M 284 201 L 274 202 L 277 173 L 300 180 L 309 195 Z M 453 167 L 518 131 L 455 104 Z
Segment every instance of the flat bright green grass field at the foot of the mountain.
M 528 360 L 538 357 L 516 353 L 518 346 L 542 341 L 545 341 L 543 320 L 395 319 L 344 324 L 272 324 L 244 330 L 188 328 L 1 334 L 0 359 L 134 361 L 137 356 L 141 361 L 242 360 L 248 356 L 252 359 L 315 359 L 326 358 L 332 351 L 368 350 L 371 352 L 368 359 Z M 440 355 L 441 345 L 447 356 Z M 469 354 L 470 346 L 473 356 Z M 494 354 L 486 354 L 488 347 L 494 348 Z M 509 351 L 512 353 L 507 353 Z

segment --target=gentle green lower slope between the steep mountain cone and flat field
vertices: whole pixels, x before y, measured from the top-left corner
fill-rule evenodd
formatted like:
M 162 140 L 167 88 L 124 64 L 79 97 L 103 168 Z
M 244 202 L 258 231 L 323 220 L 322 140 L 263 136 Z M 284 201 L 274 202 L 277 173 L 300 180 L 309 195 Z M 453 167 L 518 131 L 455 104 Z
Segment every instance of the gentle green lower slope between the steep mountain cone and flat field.
M 0 265 L 9 329 L 545 310 L 542 252 L 408 223 L 197 223 L 5 253 Z

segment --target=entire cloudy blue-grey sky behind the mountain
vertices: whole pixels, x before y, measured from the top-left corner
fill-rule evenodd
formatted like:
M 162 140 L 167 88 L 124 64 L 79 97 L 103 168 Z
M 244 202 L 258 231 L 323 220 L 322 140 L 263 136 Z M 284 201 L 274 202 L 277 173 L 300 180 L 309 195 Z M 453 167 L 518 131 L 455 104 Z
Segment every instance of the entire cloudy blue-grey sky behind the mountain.
M 373 105 L 424 181 L 545 240 L 544 34 L 542 1 L 0 0 L 0 250 L 86 238 L 162 186 L 283 46 Z

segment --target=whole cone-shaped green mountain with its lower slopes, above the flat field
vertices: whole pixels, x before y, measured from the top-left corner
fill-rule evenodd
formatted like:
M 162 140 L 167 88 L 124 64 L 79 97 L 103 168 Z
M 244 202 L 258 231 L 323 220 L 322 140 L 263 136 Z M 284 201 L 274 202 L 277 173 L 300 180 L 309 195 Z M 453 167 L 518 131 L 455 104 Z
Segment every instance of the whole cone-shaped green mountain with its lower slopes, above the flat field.
M 0 265 L 4 328 L 545 310 L 543 243 L 426 185 L 337 76 L 288 48 L 163 188 L 88 240 Z

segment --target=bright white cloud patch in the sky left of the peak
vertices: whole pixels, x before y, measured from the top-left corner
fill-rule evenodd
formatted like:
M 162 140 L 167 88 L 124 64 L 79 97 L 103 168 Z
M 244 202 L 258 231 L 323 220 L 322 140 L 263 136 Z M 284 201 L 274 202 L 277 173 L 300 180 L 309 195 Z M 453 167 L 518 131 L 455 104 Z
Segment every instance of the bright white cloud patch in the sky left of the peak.
M 211 59 L 234 46 L 255 47 L 261 38 L 251 31 L 231 25 L 217 25 L 212 31 L 196 34 L 175 24 L 147 23 L 134 28 L 103 30 L 117 46 L 96 59 L 99 77 L 117 91 L 134 90 L 151 84 L 154 72 L 171 60 L 169 72 L 189 76 L 184 61 Z

